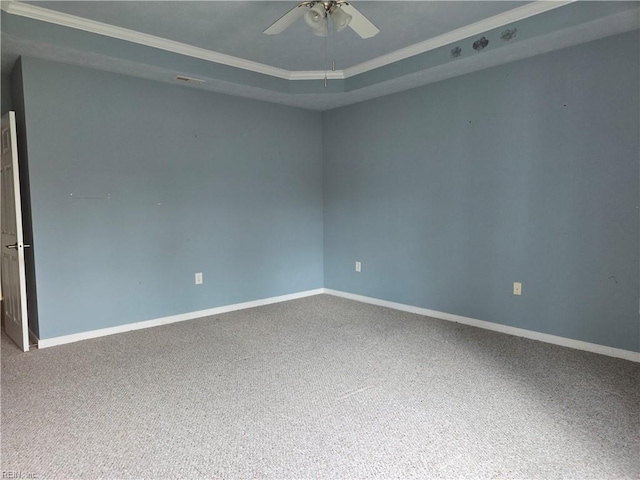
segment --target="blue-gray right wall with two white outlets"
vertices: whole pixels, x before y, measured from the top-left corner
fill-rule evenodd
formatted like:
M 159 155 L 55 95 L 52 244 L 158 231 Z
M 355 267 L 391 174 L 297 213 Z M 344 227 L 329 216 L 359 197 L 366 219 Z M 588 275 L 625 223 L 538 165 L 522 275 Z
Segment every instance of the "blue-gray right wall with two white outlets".
M 325 113 L 325 287 L 640 351 L 639 43 Z

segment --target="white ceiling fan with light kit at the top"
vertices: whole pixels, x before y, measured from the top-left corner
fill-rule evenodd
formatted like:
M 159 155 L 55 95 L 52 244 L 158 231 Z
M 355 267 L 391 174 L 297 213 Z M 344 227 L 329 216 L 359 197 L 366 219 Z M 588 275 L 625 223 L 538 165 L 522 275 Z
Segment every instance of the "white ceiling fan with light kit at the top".
M 338 32 L 347 26 L 362 38 L 371 38 L 380 32 L 378 27 L 347 0 L 308 0 L 293 7 L 267 28 L 264 33 L 277 35 L 300 17 L 304 17 L 313 34 L 319 37 L 326 37 L 329 34 L 329 17 Z

